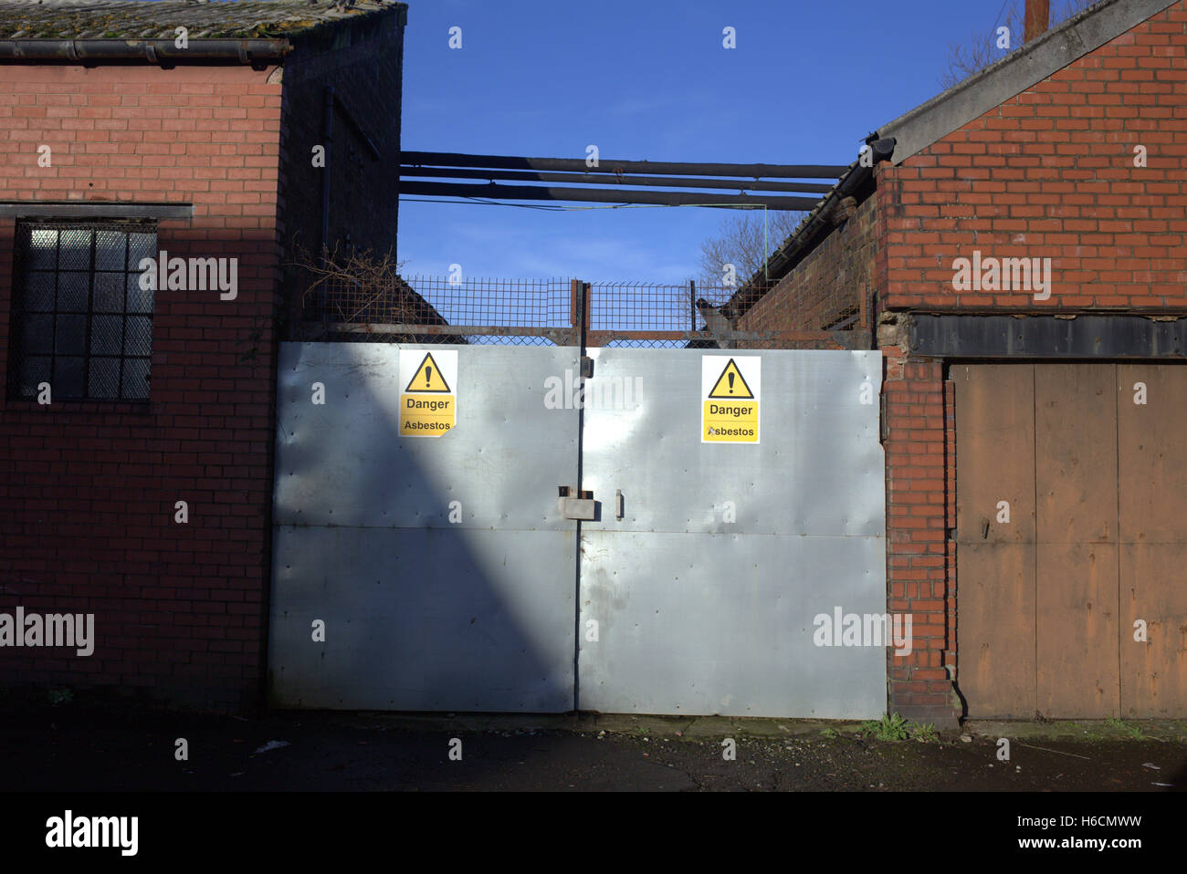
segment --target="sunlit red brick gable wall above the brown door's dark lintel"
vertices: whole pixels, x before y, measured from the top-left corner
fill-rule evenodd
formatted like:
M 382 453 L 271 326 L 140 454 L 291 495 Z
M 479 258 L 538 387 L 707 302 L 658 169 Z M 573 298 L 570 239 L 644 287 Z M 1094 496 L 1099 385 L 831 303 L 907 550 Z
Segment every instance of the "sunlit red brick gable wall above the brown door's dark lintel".
M 884 305 L 1187 310 L 1185 94 L 1179 2 L 882 173 Z M 975 249 L 1049 257 L 1050 299 L 954 291 Z

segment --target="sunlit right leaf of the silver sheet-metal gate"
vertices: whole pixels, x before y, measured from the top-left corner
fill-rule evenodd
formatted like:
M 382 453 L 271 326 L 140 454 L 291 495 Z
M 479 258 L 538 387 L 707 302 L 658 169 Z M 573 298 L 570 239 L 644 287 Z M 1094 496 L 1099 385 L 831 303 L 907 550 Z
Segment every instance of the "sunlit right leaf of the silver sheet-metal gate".
M 602 513 L 582 523 L 579 627 L 596 620 L 598 642 L 580 643 L 579 706 L 878 716 L 884 645 L 817 646 L 813 620 L 886 613 L 881 356 L 748 350 L 762 442 L 722 445 L 700 442 L 703 355 L 590 350 L 594 381 L 629 384 L 633 403 L 585 410 L 583 487 Z

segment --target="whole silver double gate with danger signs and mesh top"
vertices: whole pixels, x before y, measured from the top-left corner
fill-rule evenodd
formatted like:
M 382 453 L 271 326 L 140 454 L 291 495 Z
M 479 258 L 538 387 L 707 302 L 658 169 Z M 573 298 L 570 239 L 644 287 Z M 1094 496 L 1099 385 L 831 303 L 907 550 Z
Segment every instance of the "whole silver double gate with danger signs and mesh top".
M 353 294 L 281 344 L 274 706 L 883 713 L 886 636 L 839 629 L 886 618 L 864 300 Z

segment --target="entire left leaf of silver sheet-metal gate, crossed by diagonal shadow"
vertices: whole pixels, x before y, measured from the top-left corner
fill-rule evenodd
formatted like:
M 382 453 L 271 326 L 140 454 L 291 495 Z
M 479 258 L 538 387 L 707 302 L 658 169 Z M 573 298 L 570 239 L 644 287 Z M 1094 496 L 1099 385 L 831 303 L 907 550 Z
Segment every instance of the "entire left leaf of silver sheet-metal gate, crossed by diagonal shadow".
M 456 427 L 400 439 L 401 347 L 434 349 L 281 344 L 272 701 L 569 710 L 576 534 L 557 486 L 576 485 L 578 412 L 546 409 L 542 387 L 577 356 L 459 346 Z

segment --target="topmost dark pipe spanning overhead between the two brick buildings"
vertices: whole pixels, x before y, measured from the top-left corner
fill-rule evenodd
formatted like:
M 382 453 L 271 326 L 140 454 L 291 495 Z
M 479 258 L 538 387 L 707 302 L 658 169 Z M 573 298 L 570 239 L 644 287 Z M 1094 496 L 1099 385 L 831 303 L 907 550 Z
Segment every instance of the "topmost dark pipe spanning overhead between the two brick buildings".
M 732 176 L 776 179 L 837 179 L 849 167 L 824 164 L 673 164 L 661 161 L 618 161 L 603 158 L 598 166 L 586 166 L 584 158 L 515 158 L 471 155 L 455 152 L 402 152 L 405 166 L 484 167 L 497 170 L 551 170 L 570 173 L 655 173 L 659 176 Z

